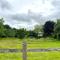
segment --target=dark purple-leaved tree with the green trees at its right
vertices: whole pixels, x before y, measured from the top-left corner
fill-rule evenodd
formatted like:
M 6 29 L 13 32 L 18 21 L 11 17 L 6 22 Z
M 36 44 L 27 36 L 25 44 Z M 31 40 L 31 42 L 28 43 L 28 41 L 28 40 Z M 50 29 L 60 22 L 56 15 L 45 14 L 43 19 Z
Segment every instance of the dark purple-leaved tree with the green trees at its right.
M 60 19 L 57 22 L 47 21 L 43 26 L 43 37 L 60 39 Z

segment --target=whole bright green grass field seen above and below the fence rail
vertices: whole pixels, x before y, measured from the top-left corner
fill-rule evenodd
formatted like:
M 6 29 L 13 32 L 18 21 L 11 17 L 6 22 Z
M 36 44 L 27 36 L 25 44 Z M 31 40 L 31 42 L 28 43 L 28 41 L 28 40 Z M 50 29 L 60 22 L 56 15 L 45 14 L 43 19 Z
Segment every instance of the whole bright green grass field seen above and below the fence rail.
M 24 39 L 28 44 L 27 48 L 59 48 L 60 41 L 52 38 Z M 22 48 L 23 40 L 17 38 L 0 38 L 1 48 Z M 28 52 L 27 60 L 60 60 L 60 52 Z M 22 60 L 22 53 L 0 53 L 0 60 Z

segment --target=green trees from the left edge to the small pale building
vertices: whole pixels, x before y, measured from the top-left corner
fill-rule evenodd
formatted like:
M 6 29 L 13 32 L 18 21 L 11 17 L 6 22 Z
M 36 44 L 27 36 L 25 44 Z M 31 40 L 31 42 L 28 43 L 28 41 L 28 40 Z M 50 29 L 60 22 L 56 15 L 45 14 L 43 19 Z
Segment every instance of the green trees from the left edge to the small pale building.
M 25 38 L 25 37 L 37 37 L 37 33 L 34 31 L 27 31 L 26 29 L 16 29 L 11 28 L 9 25 L 4 24 L 3 18 L 0 19 L 0 37 L 16 37 L 16 38 Z

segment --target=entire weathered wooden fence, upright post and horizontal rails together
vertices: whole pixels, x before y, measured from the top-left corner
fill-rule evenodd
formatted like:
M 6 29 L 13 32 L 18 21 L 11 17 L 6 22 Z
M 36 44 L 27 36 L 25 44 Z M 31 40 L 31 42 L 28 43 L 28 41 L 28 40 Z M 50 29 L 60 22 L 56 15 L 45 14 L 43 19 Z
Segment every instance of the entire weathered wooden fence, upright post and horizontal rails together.
M 22 52 L 23 60 L 27 60 L 27 52 L 48 52 L 48 51 L 60 51 L 60 48 L 40 48 L 40 49 L 27 49 L 27 43 L 22 43 L 22 49 L 0 49 L 0 53 L 8 52 Z

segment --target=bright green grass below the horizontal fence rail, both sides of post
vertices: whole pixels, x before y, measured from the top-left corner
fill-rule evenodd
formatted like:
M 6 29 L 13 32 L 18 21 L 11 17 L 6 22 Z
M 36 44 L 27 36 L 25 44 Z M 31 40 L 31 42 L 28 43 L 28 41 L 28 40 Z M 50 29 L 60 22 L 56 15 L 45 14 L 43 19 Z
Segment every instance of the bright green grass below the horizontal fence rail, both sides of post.
M 22 60 L 22 53 L 0 53 L 0 60 Z M 28 52 L 27 60 L 60 60 L 60 52 Z

